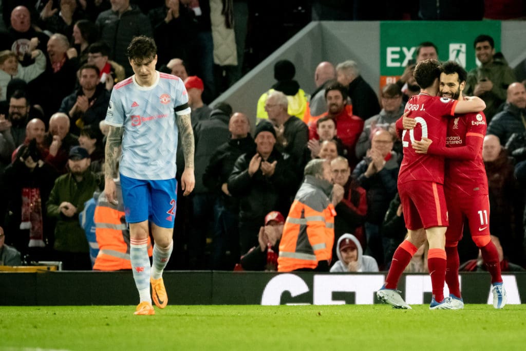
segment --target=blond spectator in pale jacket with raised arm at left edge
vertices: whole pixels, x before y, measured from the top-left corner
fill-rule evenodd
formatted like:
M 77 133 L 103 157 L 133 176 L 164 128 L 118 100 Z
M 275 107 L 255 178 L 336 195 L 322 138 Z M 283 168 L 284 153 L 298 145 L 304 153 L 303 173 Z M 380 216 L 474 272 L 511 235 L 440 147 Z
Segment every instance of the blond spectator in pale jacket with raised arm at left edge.
M 29 66 L 23 67 L 18 63 L 18 57 L 11 50 L 0 52 L 0 101 L 7 98 L 7 84 L 13 78 L 23 79 L 25 82 L 31 82 L 46 69 L 46 57 L 42 51 L 35 49 L 31 53 L 31 58 L 35 62 Z

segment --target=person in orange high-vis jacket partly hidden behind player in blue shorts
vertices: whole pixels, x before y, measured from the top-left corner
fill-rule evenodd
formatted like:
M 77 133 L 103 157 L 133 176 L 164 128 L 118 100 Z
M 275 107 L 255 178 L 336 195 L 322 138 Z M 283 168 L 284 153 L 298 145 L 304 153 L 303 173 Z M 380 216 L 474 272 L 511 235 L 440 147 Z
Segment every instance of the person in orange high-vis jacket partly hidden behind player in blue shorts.
M 94 270 L 131 269 L 130 233 L 124 213 L 124 203 L 120 183 L 115 182 L 117 200 L 108 202 L 101 193 L 95 208 L 95 235 L 99 253 L 95 259 Z M 151 239 L 148 237 L 148 256 L 151 257 Z

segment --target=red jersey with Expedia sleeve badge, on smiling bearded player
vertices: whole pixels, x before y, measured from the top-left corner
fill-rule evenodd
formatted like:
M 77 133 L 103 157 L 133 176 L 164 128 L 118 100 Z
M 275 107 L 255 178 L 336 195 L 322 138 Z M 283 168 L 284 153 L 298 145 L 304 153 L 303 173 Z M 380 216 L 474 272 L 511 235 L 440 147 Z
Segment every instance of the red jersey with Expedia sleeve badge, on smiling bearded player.
M 448 123 L 446 146 L 470 148 L 474 159 L 446 159 L 444 189 L 459 195 L 488 195 L 488 178 L 482 160 L 482 142 L 486 135 L 486 116 L 483 112 L 458 115 Z M 458 149 L 462 153 L 461 149 Z M 462 157 L 461 155 L 459 155 Z

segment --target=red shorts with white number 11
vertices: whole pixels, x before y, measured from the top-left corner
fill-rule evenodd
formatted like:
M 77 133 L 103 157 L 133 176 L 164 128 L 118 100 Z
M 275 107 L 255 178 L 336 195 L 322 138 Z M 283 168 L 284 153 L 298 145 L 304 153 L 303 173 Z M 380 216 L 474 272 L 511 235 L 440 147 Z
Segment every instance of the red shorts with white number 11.
M 490 202 L 488 195 L 459 197 L 448 194 L 449 227 L 446 242 L 456 243 L 462 239 L 464 220 L 468 220 L 471 237 L 490 235 Z M 451 246 L 447 245 L 446 246 Z

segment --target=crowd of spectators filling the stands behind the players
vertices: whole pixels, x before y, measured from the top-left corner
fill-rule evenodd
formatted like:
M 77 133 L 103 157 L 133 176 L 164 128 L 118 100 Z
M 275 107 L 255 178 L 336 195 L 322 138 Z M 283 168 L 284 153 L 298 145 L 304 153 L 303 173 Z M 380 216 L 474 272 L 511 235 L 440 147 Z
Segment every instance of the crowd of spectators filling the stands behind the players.
M 276 270 L 280 250 L 287 253 L 298 240 L 294 230 L 328 213 L 334 236 L 319 242 L 332 248 L 321 256 L 326 263 L 297 267 L 289 259 L 285 265 L 331 272 L 388 269 L 407 233 L 397 193 L 402 144 L 395 122 L 419 92 L 414 65 L 377 96 L 351 59 L 321 62 L 313 72 L 313 92 L 294 79 L 294 63 L 278 61 L 276 83 L 261 87 L 254 101 L 257 125 L 250 126 L 250 118 L 227 103 L 207 105 L 224 89 L 214 70 L 222 71 L 227 85 L 241 76 L 245 46 L 232 6 L 246 2 L 135 3 L 2 2 L 8 25 L 0 32 L 0 263 L 8 262 L 3 253 L 14 248 L 27 263 L 129 269 L 124 209 L 99 196 L 104 119 L 114 84 L 133 74 L 128 43 L 147 35 L 158 46 L 157 69 L 185 82 L 196 145 L 196 186 L 188 197 L 178 189 L 168 269 Z M 422 18 L 431 13 L 420 9 Z M 339 19 L 371 19 L 362 10 L 357 5 L 352 17 Z M 312 2 L 313 18 L 343 13 L 331 11 Z M 526 77 L 494 52 L 491 37 L 474 38 L 473 45 L 481 66 L 469 73 L 464 95 L 487 104 L 483 159 L 492 240 L 503 271 L 524 269 L 526 91 L 520 79 Z M 414 58 L 438 58 L 437 48 L 424 42 Z M 284 227 L 286 221 L 298 228 Z M 426 250 L 424 244 L 408 271 L 427 269 Z M 465 269 L 484 269 L 469 240 L 461 242 L 459 255 Z M 114 261 L 97 265 L 98 256 Z

